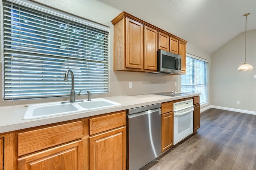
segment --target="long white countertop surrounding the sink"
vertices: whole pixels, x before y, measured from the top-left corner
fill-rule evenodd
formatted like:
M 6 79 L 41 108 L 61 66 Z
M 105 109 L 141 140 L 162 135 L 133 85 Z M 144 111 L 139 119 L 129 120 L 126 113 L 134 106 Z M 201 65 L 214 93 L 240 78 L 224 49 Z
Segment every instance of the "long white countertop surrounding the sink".
M 121 106 L 99 109 L 94 111 L 83 111 L 78 113 L 71 113 L 65 115 L 58 115 L 52 117 L 45 117 L 40 119 L 23 120 L 22 117 L 26 113 L 28 107 L 25 106 L 4 106 L 0 107 L 0 133 L 14 131 L 19 129 L 25 129 L 29 127 L 36 127 L 40 125 L 46 125 L 50 123 L 57 123 L 62 121 L 68 121 L 73 119 L 79 119 L 94 115 L 100 115 L 104 113 L 111 113 L 114 111 L 121 111 L 126 109 L 132 109 L 135 107 L 147 106 L 151 104 L 157 104 L 162 102 L 169 102 L 173 100 L 179 100 L 183 98 L 190 98 L 198 96 L 198 93 L 189 94 L 186 96 L 160 96 L 155 94 L 144 94 L 138 96 L 116 96 L 104 98 L 113 102 L 120 103 Z

